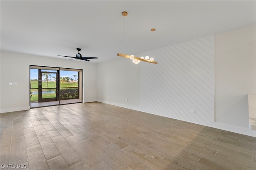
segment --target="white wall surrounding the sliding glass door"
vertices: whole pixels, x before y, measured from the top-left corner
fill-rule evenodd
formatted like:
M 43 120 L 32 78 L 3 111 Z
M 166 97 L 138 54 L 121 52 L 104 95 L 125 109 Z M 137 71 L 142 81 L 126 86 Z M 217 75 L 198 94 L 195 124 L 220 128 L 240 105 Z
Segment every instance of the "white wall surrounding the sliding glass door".
M 29 109 L 30 65 L 83 69 L 84 102 L 96 101 L 96 64 L 1 51 L 0 113 Z M 9 85 L 17 82 L 17 85 Z

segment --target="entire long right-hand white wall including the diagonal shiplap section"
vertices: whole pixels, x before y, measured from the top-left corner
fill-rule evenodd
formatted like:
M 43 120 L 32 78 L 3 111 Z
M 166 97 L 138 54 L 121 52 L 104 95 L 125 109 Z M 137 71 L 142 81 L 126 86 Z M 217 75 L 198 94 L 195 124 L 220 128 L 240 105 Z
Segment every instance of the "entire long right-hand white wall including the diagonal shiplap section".
M 247 99 L 256 91 L 255 37 L 254 25 L 141 53 L 157 65 L 125 58 L 100 63 L 97 99 L 256 137 L 249 129 Z M 136 103 L 125 103 L 127 94 Z

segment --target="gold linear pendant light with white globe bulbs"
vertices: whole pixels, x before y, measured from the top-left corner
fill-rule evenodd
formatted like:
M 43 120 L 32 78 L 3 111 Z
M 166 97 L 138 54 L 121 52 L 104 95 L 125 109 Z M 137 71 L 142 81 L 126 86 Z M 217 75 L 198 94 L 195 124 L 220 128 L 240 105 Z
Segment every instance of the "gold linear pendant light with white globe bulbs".
M 122 16 L 127 16 L 128 13 L 126 11 L 122 12 Z M 156 29 L 152 28 L 151 31 L 154 32 Z M 152 38 L 152 43 L 153 43 L 154 39 Z M 124 53 L 125 53 L 125 46 L 126 46 L 126 34 L 125 34 L 125 19 L 124 19 Z M 135 57 L 134 55 L 126 55 L 126 54 L 121 54 L 121 53 L 117 53 L 118 56 L 120 57 L 126 57 L 126 58 L 130 58 L 132 60 L 133 63 L 138 64 L 140 63 L 140 61 L 145 61 L 148 63 L 154 63 L 157 64 L 156 61 L 154 61 L 153 57 L 146 56 L 145 58 L 143 56 L 141 56 L 140 58 Z

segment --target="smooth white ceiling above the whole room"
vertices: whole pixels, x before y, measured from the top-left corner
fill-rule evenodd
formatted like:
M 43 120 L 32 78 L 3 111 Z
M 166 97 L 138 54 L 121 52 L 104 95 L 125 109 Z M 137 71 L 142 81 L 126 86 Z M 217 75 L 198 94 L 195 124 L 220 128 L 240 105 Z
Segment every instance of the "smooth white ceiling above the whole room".
M 93 63 L 256 24 L 255 0 L 1 0 L 0 7 L 1 50 L 58 57 L 82 48 L 82 56 L 99 58 Z

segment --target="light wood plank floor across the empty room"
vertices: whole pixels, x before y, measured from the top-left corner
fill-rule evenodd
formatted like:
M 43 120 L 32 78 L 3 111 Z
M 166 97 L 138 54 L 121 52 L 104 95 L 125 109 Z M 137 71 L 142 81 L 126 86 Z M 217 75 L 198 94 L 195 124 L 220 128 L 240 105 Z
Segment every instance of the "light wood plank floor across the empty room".
M 255 170 L 256 138 L 98 102 L 0 114 L 0 164 Z

